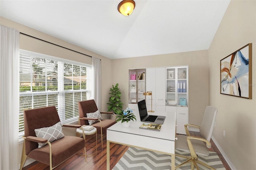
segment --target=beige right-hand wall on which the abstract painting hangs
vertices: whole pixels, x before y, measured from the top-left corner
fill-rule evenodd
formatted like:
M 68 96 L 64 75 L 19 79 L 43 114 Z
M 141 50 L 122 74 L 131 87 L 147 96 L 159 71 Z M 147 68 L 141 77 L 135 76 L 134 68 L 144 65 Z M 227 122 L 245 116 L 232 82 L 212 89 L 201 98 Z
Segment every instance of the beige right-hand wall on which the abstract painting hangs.
M 252 99 L 220 94 L 220 59 L 252 43 Z M 256 169 L 256 1 L 231 0 L 209 51 L 213 136 L 238 170 Z M 226 137 L 223 136 L 226 131 Z

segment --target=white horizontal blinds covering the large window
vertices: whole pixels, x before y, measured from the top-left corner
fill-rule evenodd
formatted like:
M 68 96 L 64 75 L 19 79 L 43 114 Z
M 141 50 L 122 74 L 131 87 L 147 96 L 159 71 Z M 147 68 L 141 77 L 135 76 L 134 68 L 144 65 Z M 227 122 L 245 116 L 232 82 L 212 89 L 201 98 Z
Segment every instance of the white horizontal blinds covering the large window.
M 78 101 L 91 97 L 91 65 L 20 51 L 19 136 L 23 111 L 55 106 L 61 123 L 78 119 Z

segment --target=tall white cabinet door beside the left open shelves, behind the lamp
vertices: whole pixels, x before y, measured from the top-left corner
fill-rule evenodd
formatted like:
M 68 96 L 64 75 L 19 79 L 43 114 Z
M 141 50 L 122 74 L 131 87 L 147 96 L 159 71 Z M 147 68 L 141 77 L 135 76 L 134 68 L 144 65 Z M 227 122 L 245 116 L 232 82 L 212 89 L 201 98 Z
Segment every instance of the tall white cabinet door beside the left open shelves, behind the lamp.
M 146 69 L 146 91 L 152 91 L 152 105 L 155 105 L 156 103 L 156 69 L 155 68 L 148 68 Z M 150 105 L 151 107 L 151 96 L 146 96 L 146 104 Z M 150 110 L 147 107 L 148 110 Z

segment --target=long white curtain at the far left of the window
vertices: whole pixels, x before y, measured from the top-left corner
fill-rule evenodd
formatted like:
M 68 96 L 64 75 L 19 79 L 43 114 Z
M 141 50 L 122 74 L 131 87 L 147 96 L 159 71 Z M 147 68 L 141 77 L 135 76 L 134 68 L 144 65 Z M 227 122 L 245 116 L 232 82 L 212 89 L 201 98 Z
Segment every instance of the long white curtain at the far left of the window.
M 0 169 L 19 169 L 20 33 L 0 25 Z

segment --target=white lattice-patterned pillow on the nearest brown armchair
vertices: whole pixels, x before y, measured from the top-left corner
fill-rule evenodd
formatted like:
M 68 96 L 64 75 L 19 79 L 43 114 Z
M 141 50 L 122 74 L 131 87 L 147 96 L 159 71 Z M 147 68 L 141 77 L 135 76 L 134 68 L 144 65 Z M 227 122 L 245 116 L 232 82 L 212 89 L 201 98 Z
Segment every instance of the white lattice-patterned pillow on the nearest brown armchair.
M 61 123 L 58 122 L 51 127 L 44 127 L 35 129 L 36 136 L 39 138 L 47 139 L 49 142 L 58 140 L 64 137 L 62 132 Z M 38 148 L 42 148 L 46 143 L 38 143 Z

